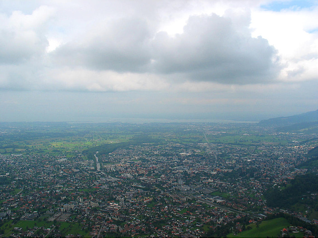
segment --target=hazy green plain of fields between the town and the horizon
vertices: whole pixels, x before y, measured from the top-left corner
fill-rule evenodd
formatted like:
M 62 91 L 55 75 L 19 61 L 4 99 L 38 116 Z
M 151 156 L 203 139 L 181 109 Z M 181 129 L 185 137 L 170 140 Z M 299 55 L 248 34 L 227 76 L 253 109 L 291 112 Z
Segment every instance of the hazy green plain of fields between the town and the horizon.
M 243 146 L 285 145 L 292 140 L 284 135 L 277 137 L 276 134 L 255 132 L 249 126 L 216 127 L 216 132 L 207 134 L 207 139 L 212 144 Z M 202 130 L 191 124 L 154 123 L 143 127 L 129 123 L 2 123 L 0 130 L 6 132 L 0 135 L 0 154 L 3 155 L 48 154 L 72 158 L 79 152 L 104 144 L 136 141 L 136 138 L 139 142 L 147 142 L 139 138 L 146 134 L 157 143 L 159 140 L 180 144 L 206 142 Z

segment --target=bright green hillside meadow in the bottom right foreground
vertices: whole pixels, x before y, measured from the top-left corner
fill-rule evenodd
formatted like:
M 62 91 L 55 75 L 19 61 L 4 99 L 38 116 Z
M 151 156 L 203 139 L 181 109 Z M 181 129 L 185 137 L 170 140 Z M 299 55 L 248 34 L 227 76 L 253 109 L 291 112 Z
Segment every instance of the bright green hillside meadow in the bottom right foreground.
M 233 233 L 229 234 L 227 237 L 236 237 L 236 238 L 263 238 L 263 237 L 278 237 L 280 236 L 280 231 L 283 228 L 288 228 L 291 226 L 285 218 L 275 218 L 269 221 L 263 221 L 259 224 L 259 227 L 256 227 L 256 224 L 248 225 L 251 230 L 243 231 L 236 236 Z M 246 227 L 246 228 L 247 228 Z M 303 237 L 303 233 L 293 234 L 295 237 Z

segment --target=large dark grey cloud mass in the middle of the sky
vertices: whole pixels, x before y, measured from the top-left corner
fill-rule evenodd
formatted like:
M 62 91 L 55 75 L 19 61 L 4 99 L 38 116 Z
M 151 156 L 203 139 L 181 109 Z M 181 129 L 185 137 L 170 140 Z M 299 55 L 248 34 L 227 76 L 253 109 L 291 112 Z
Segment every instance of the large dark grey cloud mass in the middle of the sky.
M 144 19 L 120 19 L 61 46 L 54 57 L 62 64 L 90 69 L 177 73 L 226 84 L 274 78 L 279 71 L 274 47 L 251 37 L 249 17 L 228 15 L 191 16 L 183 33 L 175 36 L 155 33 Z

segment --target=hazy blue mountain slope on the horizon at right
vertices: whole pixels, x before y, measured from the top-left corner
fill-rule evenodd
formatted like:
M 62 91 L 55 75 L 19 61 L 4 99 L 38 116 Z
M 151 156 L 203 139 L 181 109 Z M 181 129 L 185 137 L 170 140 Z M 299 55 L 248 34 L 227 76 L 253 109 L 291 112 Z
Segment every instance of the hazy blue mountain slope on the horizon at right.
M 308 123 L 308 122 L 316 122 L 318 121 L 318 110 L 308 113 L 303 113 L 290 117 L 280 117 L 280 118 L 272 118 L 261 120 L 258 122 L 260 126 L 290 126 L 293 124 L 300 123 Z

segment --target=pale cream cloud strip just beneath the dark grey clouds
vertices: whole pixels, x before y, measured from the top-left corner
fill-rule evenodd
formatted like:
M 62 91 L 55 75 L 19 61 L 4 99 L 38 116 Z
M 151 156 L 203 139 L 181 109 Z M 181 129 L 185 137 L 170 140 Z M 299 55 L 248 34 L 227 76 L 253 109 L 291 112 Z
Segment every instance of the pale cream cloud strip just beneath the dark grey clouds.
M 68 91 L 123 92 L 166 90 L 169 83 L 156 74 L 118 73 L 110 70 L 94 71 L 82 68 L 58 68 L 45 71 L 42 89 Z

